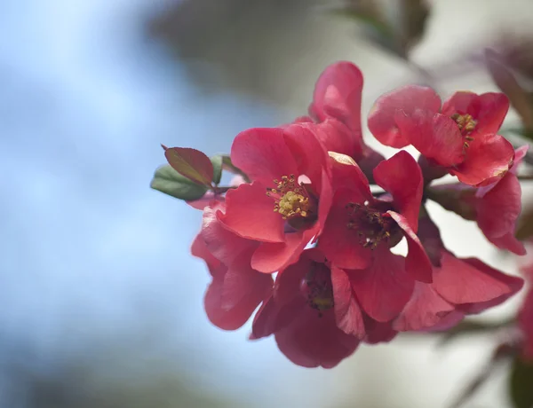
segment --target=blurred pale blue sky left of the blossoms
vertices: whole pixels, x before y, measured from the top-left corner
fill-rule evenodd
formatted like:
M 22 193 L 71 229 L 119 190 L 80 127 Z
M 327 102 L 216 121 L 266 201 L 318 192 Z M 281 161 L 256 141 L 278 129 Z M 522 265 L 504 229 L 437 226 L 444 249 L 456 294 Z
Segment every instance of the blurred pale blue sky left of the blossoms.
M 254 392 L 264 373 L 302 372 L 274 341 L 247 341 L 249 327 L 209 324 L 208 274 L 188 254 L 201 215 L 148 184 L 164 160 L 159 143 L 224 152 L 239 130 L 282 114 L 198 96 L 143 36 L 154 9 L 140 3 L 3 4 L 0 326 L 44 369 L 97 341 L 160 330 L 153 352 L 187 357 L 204 385 Z

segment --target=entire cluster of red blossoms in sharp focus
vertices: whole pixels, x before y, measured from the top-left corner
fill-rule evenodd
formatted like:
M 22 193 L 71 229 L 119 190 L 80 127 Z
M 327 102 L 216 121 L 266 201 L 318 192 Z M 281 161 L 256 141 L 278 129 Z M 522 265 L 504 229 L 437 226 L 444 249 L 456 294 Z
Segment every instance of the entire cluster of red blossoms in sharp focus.
M 211 322 L 235 330 L 259 307 L 251 339 L 273 334 L 306 367 L 333 367 L 361 343 L 399 332 L 448 329 L 523 284 L 452 254 L 425 207 L 434 200 L 475 221 L 496 247 L 525 254 L 514 230 L 527 148 L 497 135 L 505 95 L 461 91 L 442 104 L 433 89 L 410 85 L 381 96 L 368 117 L 372 135 L 420 153 L 385 160 L 363 143 L 362 82 L 349 62 L 327 67 L 308 116 L 238 134 L 225 167 L 234 183 L 191 203 L 203 209 L 192 254 L 211 272 Z M 183 174 L 187 149 L 176 149 L 166 155 Z M 201 168 L 189 178 L 201 179 Z M 457 183 L 432 184 L 448 174 Z M 392 251 L 402 240 L 405 256 Z

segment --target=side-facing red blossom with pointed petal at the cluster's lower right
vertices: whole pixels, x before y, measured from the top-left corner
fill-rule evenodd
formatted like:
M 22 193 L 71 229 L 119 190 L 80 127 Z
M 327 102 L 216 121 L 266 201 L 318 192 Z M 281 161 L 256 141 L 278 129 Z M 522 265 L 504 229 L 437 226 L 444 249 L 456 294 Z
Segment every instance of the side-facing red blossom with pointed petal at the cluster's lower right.
M 418 235 L 429 254 L 439 253 L 433 283 L 415 284 L 409 302 L 394 320 L 395 330 L 446 330 L 465 315 L 497 306 L 521 289 L 522 279 L 505 275 L 478 259 L 451 254 L 429 217 L 420 221 Z

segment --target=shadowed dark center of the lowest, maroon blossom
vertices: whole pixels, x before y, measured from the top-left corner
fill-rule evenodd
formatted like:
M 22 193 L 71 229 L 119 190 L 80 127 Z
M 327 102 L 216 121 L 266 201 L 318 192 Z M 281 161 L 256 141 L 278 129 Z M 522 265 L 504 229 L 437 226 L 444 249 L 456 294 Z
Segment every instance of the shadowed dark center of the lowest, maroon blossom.
M 306 296 L 307 304 L 314 310 L 331 309 L 333 302 L 333 286 L 331 286 L 331 271 L 323 263 L 313 263 L 311 270 L 306 273 L 300 286 L 302 294 Z

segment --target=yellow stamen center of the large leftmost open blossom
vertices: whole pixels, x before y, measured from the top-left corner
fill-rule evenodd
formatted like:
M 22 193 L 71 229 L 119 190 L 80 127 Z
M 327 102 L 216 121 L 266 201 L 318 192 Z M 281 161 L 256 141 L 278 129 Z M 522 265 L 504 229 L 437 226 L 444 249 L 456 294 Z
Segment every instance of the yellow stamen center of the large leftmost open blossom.
M 284 220 L 311 216 L 313 203 L 304 184 L 298 184 L 293 174 L 283 176 L 281 181 L 274 180 L 274 184 L 276 187 L 267 192 L 268 196 L 274 196 L 274 212 L 280 213 Z

